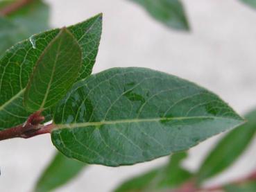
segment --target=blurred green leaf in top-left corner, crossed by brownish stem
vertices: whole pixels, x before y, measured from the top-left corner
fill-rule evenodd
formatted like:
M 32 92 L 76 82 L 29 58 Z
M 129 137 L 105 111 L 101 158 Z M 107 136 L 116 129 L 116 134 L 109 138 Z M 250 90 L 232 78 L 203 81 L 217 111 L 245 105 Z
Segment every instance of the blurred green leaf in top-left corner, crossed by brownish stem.
M 1 1 L 1 8 L 15 1 Z M 49 29 L 49 7 L 39 0 L 12 12 L 6 17 L 0 17 L 0 55 L 15 43 L 30 35 Z

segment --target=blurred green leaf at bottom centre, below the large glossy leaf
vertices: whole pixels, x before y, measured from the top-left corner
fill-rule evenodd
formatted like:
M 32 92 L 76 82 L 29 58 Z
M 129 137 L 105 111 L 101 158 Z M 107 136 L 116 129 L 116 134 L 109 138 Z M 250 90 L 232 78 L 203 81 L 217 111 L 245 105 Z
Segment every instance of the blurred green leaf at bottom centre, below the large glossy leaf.
M 186 152 L 176 153 L 171 156 L 169 164 L 128 180 L 115 191 L 132 192 L 175 189 L 191 177 L 191 173 L 180 167 L 180 163 L 185 157 L 187 157 Z

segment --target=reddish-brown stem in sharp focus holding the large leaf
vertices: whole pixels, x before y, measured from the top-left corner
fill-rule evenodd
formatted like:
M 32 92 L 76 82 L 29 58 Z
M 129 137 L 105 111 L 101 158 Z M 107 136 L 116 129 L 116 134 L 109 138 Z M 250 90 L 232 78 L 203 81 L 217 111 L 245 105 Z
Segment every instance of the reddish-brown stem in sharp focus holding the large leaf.
M 38 134 L 50 133 L 55 125 L 53 123 L 50 125 L 42 125 L 40 124 L 42 121 L 44 121 L 44 116 L 41 115 L 41 112 L 35 112 L 28 117 L 24 124 L 0 131 L 0 141 L 15 137 L 26 139 Z

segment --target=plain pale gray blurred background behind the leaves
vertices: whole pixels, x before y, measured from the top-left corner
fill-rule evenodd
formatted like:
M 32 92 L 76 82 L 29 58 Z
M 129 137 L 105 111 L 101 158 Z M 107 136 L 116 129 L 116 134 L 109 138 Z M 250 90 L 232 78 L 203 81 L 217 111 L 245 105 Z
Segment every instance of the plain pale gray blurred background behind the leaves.
M 190 33 L 170 30 L 128 0 L 47 0 L 51 25 L 69 26 L 103 12 L 103 35 L 94 73 L 110 67 L 149 67 L 197 82 L 219 94 L 240 114 L 256 106 L 256 10 L 237 0 L 183 0 Z M 189 151 L 185 166 L 196 170 L 219 137 Z M 230 146 L 232 150 L 232 146 Z M 51 160 L 49 135 L 0 143 L 0 191 L 29 192 Z M 256 141 L 244 157 L 210 183 L 246 175 L 255 162 Z M 108 192 L 167 158 L 109 168 L 90 166 L 58 191 Z

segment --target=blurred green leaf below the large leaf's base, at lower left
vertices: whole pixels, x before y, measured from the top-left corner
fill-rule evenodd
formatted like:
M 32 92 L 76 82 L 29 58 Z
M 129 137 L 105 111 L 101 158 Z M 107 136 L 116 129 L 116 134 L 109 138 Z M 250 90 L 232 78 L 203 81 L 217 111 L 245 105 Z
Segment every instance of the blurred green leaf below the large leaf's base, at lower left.
M 58 152 L 40 176 L 34 191 L 48 192 L 57 189 L 76 177 L 86 166 Z

